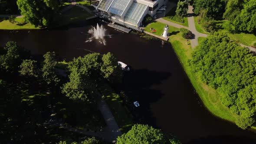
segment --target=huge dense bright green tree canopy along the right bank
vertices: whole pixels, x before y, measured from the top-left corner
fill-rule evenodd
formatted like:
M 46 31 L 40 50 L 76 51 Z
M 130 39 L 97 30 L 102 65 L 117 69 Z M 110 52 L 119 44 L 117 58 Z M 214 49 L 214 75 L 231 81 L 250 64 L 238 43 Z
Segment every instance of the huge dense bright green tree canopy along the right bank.
M 190 67 L 216 88 L 224 105 L 243 118 L 256 114 L 256 57 L 230 42 L 222 32 L 204 40 L 192 54 Z

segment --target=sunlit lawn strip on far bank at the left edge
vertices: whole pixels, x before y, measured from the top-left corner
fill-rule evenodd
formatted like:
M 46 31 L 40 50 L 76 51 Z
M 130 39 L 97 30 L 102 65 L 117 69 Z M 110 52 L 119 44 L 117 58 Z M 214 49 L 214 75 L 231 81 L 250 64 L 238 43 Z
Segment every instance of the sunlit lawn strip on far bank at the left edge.
M 16 18 L 16 23 L 10 23 L 9 20 L 0 22 L 0 29 L 39 29 L 30 23 L 23 24 L 23 18 Z

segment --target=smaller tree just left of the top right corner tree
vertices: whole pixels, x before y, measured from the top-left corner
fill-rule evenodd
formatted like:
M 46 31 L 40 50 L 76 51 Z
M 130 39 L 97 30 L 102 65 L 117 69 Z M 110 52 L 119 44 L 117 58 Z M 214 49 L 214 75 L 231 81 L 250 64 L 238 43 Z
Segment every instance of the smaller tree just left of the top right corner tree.
M 226 5 L 225 13 L 223 13 L 223 18 L 233 22 L 241 12 L 243 8 L 243 0 L 229 0 Z

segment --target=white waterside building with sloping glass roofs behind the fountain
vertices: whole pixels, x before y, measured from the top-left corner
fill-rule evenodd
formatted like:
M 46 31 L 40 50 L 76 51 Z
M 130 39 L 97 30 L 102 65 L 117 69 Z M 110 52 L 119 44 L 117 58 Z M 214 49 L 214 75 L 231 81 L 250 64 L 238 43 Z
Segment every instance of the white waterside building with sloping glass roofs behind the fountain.
M 166 3 L 167 0 L 100 0 L 96 10 L 115 23 L 139 27 L 144 16 L 154 16 Z

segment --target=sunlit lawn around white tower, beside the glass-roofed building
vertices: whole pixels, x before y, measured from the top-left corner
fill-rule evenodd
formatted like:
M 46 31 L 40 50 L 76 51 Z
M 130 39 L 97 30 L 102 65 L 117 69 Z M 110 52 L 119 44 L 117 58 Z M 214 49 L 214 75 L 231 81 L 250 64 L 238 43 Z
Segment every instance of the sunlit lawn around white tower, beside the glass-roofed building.
M 164 24 L 164 23 L 153 22 L 153 23 L 150 23 L 148 26 L 146 26 L 144 30 L 151 33 L 150 28 L 154 28 L 154 29 L 156 29 L 156 32 L 154 34 L 156 34 L 158 36 L 161 36 L 161 34 L 164 33 L 164 27 L 165 26 L 166 26 L 166 24 Z M 169 31 L 168 32 L 171 33 L 171 34 L 173 34 L 173 32 L 178 33 L 179 29 L 175 28 L 175 27 L 172 27 L 172 26 L 169 26 Z

